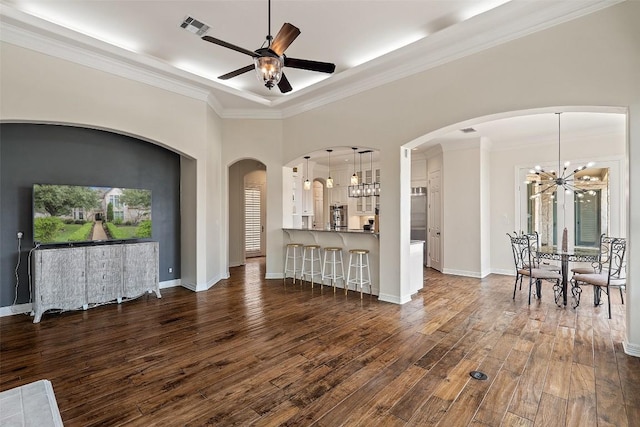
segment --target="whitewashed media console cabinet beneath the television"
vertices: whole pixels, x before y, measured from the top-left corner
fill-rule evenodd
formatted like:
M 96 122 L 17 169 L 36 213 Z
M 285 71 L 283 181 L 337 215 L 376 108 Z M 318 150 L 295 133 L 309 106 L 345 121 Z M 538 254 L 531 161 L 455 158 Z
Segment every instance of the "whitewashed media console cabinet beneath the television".
M 158 242 L 38 248 L 33 253 L 33 323 L 51 309 L 73 310 L 155 292 Z

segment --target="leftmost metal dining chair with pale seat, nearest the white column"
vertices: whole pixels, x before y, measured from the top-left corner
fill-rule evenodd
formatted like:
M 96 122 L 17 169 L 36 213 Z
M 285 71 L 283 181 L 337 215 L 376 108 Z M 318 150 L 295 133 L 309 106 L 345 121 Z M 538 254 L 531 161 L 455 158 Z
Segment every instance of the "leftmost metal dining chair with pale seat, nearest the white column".
M 513 299 L 516 298 L 516 289 L 518 288 L 518 280 L 520 281 L 520 288 L 522 289 L 522 278 L 529 278 L 529 304 L 531 304 L 531 288 L 533 284 L 536 285 L 536 295 L 538 298 L 542 297 L 542 281 L 547 280 L 554 283 L 553 291 L 556 303 L 562 293 L 562 274 L 557 271 L 548 270 L 545 268 L 535 268 L 535 248 L 533 247 L 532 240 L 528 235 L 515 235 L 512 236 L 507 233 L 509 240 L 511 241 L 511 249 L 513 251 L 513 260 L 516 268 L 516 281 L 513 285 Z

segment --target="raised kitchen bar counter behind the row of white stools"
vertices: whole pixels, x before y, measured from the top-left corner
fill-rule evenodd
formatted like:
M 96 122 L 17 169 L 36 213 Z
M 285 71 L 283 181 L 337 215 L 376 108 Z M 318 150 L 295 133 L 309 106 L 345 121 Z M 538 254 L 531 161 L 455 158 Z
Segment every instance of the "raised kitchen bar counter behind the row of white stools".
M 302 243 L 304 245 L 320 245 L 320 247 L 322 248 L 328 246 L 341 247 L 345 277 L 349 273 L 349 250 L 368 249 L 369 268 L 371 269 L 372 293 L 373 295 L 378 295 L 380 289 L 380 244 L 378 241 L 378 233 L 357 229 L 325 230 L 306 228 L 283 228 L 282 231 L 284 234 L 285 245 L 287 243 Z M 342 284 L 339 283 L 338 286 L 341 287 Z M 367 286 L 365 286 L 364 291 L 369 292 Z

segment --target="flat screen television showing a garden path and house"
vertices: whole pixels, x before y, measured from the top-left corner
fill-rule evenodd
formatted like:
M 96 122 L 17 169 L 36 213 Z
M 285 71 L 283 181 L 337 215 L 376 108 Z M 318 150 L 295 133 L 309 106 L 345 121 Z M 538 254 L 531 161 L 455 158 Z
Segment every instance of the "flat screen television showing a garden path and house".
M 35 184 L 36 244 L 151 238 L 151 190 Z

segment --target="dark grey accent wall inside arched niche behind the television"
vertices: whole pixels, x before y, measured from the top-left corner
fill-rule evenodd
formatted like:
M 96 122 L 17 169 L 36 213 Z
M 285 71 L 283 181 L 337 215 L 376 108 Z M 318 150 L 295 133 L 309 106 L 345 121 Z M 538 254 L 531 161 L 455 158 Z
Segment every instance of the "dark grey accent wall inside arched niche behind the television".
M 151 190 L 160 281 L 180 277 L 180 156 L 125 135 L 73 126 L 0 124 L 0 307 L 13 304 L 18 231 L 24 233 L 17 303 L 29 302 L 33 184 Z M 173 273 L 168 273 L 169 267 Z

